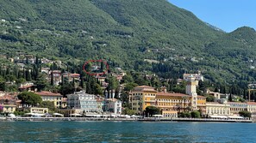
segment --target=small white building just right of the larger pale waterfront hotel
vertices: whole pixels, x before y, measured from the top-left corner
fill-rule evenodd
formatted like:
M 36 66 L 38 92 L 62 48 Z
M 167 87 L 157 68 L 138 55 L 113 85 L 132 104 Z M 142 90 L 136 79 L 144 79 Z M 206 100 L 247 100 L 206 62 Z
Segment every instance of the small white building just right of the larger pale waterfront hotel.
M 108 98 L 104 103 L 104 111 L 109 111 L 115 115 L 122 114 L 122 102 L 116 98 Z

